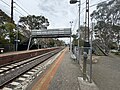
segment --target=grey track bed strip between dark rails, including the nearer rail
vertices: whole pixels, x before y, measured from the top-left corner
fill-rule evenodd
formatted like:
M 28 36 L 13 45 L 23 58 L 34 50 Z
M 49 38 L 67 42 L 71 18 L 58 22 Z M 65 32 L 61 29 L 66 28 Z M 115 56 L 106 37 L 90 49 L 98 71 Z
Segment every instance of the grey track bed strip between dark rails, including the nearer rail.
M 33 58 L 33 60 L 29 63 L 23 64 L 20 67 L 16 67 L 15 69 L 12 69 L 8 73 L 5 73 L 4 75 L 0 76 L 0 87 L 3 87 L 6 83 L 10 82 L 11 80 L 17 78 L 18 76 L 24 74 L 28 70 L 32 69 L 36 65 L 44 62 L 48 58 L 52 57 L 62 49 L 57 49 L 48 53 L 45 53 L 43 55 L 40 55 L 36 58 Z

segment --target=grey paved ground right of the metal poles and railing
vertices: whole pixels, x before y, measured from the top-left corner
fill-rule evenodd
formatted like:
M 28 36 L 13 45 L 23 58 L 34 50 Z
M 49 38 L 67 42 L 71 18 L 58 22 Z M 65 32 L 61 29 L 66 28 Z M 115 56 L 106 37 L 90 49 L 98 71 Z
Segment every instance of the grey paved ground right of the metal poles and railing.
M 93 64 L 93 80 L 99 90 L 120 90 L 120 57 L 100 56 Z

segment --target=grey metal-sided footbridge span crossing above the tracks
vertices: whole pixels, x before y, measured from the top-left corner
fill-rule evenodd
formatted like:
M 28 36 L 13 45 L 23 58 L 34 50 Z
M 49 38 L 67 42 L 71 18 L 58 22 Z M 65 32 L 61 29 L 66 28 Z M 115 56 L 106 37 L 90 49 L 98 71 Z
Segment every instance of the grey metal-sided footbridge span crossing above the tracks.
M 61 37 L 70 37 L 71 29 L 43 29 L 43 30 L 32 30 L 32 38 L 61 38 Z

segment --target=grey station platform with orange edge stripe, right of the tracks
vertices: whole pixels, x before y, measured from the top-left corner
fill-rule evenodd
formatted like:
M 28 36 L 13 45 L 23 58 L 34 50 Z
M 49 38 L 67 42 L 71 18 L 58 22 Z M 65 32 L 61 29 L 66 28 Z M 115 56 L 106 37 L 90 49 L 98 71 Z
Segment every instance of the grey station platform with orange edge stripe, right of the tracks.
M 66 48 L 31 89 L 81 90 L 78 81 L 80 76 L 80 66 L 70 57 L 69 49 Z

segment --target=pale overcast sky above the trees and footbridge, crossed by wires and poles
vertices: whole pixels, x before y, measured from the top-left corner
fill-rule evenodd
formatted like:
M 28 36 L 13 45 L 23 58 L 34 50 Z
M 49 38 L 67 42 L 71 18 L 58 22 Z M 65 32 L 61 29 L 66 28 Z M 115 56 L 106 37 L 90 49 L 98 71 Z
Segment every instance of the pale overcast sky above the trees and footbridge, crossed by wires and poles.
M 17 23 L 19 17 L 30 15 L 43 15 L 50 22 L 49 29 L 70 28 L 73 21 L 72 32 L 78 28 L 78 3 L 70 4 L 70 0 L 14 0 L 14 20 Z M 81 0 L 80 24 L 83 25 L 85 15 L 85 1 Z M 89 0 L 90 6 L 105 0 Z M 4 2 L 4 3 L 3 3 Z M 0 0 L 0 9 L 10 16 L 11 0 Z M 22 8 L 20 8 L 19 6 Z M 90 13 L 96 6 L 90 8 Z M 67 41 L 68 39 L 66 39 Z

